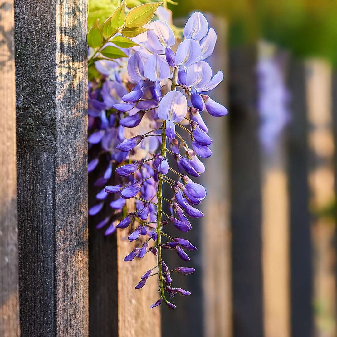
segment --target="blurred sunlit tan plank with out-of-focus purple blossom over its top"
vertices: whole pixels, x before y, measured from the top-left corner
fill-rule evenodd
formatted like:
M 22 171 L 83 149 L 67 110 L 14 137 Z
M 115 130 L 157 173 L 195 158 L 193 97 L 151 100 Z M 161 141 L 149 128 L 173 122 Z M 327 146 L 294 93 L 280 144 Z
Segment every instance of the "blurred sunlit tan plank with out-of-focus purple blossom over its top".
M 288 58 L 264 41 L 258 44 L 258 54 L 264 332 L 268 337 L 288 337 L 289 212 L 285 148 L 286 121 L 289 119 L 285 85 Z

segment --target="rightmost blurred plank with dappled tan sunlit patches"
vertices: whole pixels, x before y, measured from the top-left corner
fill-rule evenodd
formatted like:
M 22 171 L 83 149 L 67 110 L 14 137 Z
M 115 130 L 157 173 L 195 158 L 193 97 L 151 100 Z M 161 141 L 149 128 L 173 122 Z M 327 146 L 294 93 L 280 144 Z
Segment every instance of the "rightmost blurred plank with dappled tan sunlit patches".
M 332 120 L 332 70 L 320 60 L 306 62 L 307 135 L 310 148 L 308 183 L 310 208 L 326 208 L 334 200 L 334 139 Z M 311 219 L 313 240 L 313 300 L 317 336 L 336 336 L 335 221 Z

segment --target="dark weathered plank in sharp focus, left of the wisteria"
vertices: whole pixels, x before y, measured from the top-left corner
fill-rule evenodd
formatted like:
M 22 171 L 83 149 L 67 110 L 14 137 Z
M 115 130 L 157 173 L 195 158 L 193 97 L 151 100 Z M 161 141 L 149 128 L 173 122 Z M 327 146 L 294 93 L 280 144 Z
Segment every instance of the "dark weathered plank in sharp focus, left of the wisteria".
M 86 15 L 15 2 L 22 336 L 88 335 Z

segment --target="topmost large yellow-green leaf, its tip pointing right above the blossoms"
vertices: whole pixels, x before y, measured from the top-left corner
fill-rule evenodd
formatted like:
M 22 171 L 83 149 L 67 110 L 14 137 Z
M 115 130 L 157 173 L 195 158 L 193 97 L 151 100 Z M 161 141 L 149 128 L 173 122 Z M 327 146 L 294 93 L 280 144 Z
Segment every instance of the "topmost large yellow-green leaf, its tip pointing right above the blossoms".
M 143 5 L 132 8 L 125 18 L 125 26 L 127 28 L 141 27 L 151 21 L 154 12 L 162 4 L 157 3 L 145 3 Z

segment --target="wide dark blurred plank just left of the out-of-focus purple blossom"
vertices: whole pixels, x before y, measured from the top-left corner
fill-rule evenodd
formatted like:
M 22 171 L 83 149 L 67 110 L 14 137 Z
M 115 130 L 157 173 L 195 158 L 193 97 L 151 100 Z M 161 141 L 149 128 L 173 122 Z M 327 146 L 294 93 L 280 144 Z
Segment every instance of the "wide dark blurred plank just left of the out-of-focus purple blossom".
M 229 55 L 234 336 L 263 336 L 256 47 Z

